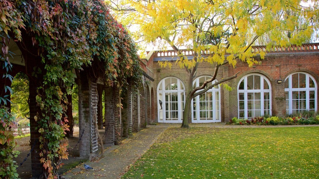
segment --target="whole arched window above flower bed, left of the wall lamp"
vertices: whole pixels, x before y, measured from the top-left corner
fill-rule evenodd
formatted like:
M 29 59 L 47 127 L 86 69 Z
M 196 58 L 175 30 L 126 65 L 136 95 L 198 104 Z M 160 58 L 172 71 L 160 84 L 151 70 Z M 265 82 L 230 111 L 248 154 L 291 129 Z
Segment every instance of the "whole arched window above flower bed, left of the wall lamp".
M 238 83 L 238 117 L 271 115 L 271 85 L 258 73 L 248 74 Z

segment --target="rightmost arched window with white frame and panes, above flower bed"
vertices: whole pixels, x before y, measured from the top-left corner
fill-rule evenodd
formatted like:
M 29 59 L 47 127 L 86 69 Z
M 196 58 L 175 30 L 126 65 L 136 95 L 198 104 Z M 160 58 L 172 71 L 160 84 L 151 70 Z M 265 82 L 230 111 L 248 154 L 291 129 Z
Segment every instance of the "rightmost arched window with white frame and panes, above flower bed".
M 317 111 L 317 84 L 304 72 L 290 74 L 285 79 L 286 113 Z

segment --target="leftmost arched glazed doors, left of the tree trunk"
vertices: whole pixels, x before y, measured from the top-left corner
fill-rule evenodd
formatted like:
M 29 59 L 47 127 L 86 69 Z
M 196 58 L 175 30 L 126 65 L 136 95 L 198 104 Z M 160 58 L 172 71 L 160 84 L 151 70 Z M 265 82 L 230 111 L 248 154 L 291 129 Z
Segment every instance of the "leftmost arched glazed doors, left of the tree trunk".
M 181 123 L 185 105 L 185 88 L 176 77 L 166 77 L 157 86 L 159 122 Z

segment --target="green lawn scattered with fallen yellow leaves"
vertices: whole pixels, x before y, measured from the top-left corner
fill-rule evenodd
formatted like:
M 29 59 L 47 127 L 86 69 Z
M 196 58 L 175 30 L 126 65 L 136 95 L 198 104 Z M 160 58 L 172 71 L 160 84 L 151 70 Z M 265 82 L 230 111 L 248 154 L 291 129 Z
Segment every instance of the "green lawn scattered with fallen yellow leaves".
M 123 178 L 319 178 L 319 127 L 169 128 Z

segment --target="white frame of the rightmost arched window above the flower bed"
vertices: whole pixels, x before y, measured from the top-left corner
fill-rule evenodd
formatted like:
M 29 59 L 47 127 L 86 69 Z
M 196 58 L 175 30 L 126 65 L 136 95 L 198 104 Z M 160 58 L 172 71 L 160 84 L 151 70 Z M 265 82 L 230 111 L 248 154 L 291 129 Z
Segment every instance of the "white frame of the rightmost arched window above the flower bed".
M 305 74 L 306 75 L 306 88 L 292 88 L 292 76 L 294 75 L 294 74 Z M 286 80 L 289 78 L 289 88 L 285 88 L 285 93 L 286 92 L 288 92 L 288 95 L 289 95 L 289 109 L 287 109 L 286 108 L 286 114 L 292 114 L 293 113 L 293 109 L 292 109 L 292 107 L 293 107 L 293 103 L 292 103 L 292 93 L 293 92 L 295 92 L 295 91 L 306 91 L 306 110 L 307 111 L 309 111 L 309 92 L 310 91 L 315 91 L 315 111 L 317 111 L 318 109 L 317 109 L 317 89 L 318 89 L 318 87 L 317 87 L 317 82 L 316 82 L 316 80 L 315 80 L 315 78 L 313 77 L 313 76 L 311 76 L 310 74 L 308 74 L 308 73 L 305 73 L 305 72 L 301 72 L 301 71 L 299 71 L 299 72 L 294 72 L 294 73 L 292 73 L 292 74 L 290 74 L 290 75 L 288 75 L 287 77 L 286 77 L 286 79 L 285 79 L 285 82 L 286 82 Z M 313 81 L 314 81 L 314 83 L 315 83 L 315 88 L 309 88 L 309 78 L 311 78 Z M 299 80 L 299 79 L 298 79 Z M 299 107 L 300 108 L 300 107 Z M 300 109 L 299 109 L 300 110 Z M 299 111 L 298 110 L 298 111 Z M 287 111 L 288 111 L 288 113 L 287 113 Z

